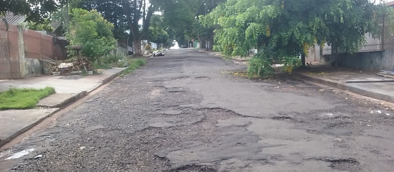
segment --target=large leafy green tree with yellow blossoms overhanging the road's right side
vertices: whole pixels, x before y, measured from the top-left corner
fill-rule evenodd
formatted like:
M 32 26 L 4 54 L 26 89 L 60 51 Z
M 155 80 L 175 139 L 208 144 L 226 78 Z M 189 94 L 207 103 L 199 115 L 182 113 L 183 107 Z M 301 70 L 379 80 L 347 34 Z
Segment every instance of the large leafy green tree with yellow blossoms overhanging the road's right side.
M 357 51 L 365 33 L 379 33 L 378 11 L 369 0 L 228 0 L 202 21 L 221 27 L 214 31 L 214 48 L 224 55 L 245 57 L 249 49 L 258 49 L 248 71 L 263 75 L 272 60 L 297 66 L 295 59 L 305 59 L 315 44 Z

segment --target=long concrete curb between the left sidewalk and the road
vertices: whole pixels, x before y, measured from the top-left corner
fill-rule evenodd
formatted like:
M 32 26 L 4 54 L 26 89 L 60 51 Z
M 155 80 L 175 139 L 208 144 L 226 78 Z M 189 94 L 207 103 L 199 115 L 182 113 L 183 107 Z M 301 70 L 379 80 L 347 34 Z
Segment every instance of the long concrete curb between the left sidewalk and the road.
M 124 70 L 126 70 L 127 68 L 125 68 Z M 0 147 L 7 144 L 9 141 L 11 141 L 12 139 L 14 139 L 15 137 L 18 137 L 20 134 L 23 134 L 24 132 L 30 130 L 31 128 L 33 128 L 34 126 L 38 125 L 39 123 L 41 123 L 42 121 L 44 121 L 46 118 L 52 116 L 53 114 L 59 112 L 61 109 L 67 107 L 69 104 L 78 101 L 79 99 L 82 99 L 83 97 L 85 97 L 86 95 L 88 95 L 89 93 L 91 93 L 92 91 L 96 90 L 97 88 L 99 88 L 100 86 L 103 86 L 104 84 L 112 81 L 113 79 L 115 79 L 116 77 L 118 77 L 119 75 L 121 75 L 121 73 L 124 71 L 119 71 L 117 73 L 114 73 L 112 75 L 110 75 L 110 77 L 107 77 L 106 79 L 103 79 L 101 81 L 101 83 L 97 86 L 95 86 L 95 88 L 89 90 L 89 91 L 81 91 L 80 93 L 70 97 L 69 99 L 66 99 L 64 101 L 62 101 L 59 105 L 55 106 L 57 109 L 54 112 L 48 113 L 46 114 L 44 117 L 41 117 L 40 119 L 38 119 L 37 121 L 34 121 L 32 124 L 24 127 L 22 130 L 19 130 L 17 132 L 15 132 L 15 134 L 11 135 L 10 137 L 7 137 L 4 140 L 0 141 Z M 48 106 L 41 106 L 41 107 L 48 107 Z M 51 107 L 48 107 L 51 108 Z

